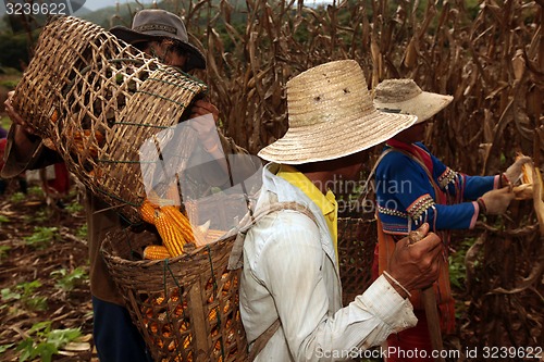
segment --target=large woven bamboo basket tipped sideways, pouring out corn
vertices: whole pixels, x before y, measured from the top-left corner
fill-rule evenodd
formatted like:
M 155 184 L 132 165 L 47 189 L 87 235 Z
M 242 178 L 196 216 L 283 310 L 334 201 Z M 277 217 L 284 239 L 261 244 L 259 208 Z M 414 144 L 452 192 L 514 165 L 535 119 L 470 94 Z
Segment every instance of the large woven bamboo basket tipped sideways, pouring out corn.
M 42 29 L 13 105 L 95 195 L 138 222 L 139 147 L 183 120 L 206 89 L 101 27 L 62 16 Z

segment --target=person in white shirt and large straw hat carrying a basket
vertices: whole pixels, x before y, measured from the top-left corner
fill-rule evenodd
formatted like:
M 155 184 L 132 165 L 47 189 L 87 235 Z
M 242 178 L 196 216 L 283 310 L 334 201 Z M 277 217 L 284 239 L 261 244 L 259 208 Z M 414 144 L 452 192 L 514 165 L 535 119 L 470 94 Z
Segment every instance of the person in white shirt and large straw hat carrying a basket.
M 416 117 L 376 111 L 353 60 L 312 67 L 286 90 L 287 133 L 258 153 L 270 163 L 243 246 L 242 321 L 255 361 L 345 359 L 416 324 L 407 297 L 436 278 L 441 241 L 422 226 L 426 236 L 404 239 L 386 274 L 342 308 L 337 204 L 327 185 L 355 179 L 360 152 Z

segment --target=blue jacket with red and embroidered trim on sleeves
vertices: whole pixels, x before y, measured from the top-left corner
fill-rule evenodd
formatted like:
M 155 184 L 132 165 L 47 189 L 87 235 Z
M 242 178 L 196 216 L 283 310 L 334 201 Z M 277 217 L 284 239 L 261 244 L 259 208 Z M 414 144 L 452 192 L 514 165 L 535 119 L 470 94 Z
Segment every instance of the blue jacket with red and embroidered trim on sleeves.
M 453 171 L 421 142 L 390 140 L 384 152 L 374 187 L 387 234 L 406 235 L 425 222 L 432 230 L 472 228 L 479 213 L 473 200 L 498 186 L 499 176 Z

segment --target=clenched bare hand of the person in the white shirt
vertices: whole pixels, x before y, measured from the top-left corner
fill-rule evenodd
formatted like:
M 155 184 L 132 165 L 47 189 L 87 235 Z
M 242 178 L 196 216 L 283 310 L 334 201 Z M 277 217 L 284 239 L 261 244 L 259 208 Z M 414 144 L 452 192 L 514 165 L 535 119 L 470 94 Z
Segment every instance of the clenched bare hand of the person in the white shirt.
M 407 290 L 426 288 L 438 278 L 442 240 L 436 234 L 428 233 L 429 224 L 423 224 L 417 235 L 395 245 L 387 272 Z M 404 292 L 400 295 L 406 297 Z

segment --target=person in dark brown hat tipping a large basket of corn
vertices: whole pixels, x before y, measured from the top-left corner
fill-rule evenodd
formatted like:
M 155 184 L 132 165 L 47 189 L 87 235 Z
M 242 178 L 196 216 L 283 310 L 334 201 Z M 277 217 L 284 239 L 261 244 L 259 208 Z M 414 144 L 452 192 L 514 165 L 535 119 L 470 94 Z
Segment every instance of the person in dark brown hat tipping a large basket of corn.
M 141 10 L 136 13 L 132 28 L 111 28 L 116 37 L 138 47 L 149 55 L 157 57 L 162 63 L 189 72 L 205 68 L 203 54 L 188 42 L 188 35 L 183 21 L 164 10 Z M 41 139 L 33 134 L 24 120 L 15 112 L 11 104 L 10 95 L 5 101 L 5 110 L 13 121 L 10 128 L 9 143 L 5 154 L 5 165 L 1 176 L 14 177 L 24 170 L 34 170 L 60 161 L 60 157 L 48 148 L 42 147 Z M 212 114 L 218 121 L 219 110 L 206 100 L 197 100 L 190 108 L 189 118 Z M 198 126 L 194 123 L 194 126 Z M 215 159 L 225 154 L 247 154 L 247 151 L 236 146 L 230 138 L 225 138 L 213 125 L 202 123 L 198 136 L 208 153 Z M 240 163 L 231 167 L 242 174 L 252 174 L 260 167 L 255 163 L 257 158 L 236 158 Z M 258 161 L 258 160 L 257 160 Z M 244 163 L 244 164 L 242 164 Z M 238 177 L 242 177 L 238 175 Z M 221 177 L 228 180 L 228 175 Z M 206 179 L 206 182 L 211 182 Z M 217 183 L 213 183 L 215 185 Z M 104 261 L 100 257 L 100 244 L 106 234 L 122 225 L 120 216 L 102 200 L 87 190 L 86 198 L 88 246 L 90 259 L 90 289 L 94 309 L 94 342 L 97 347 L 100 361 L 107 362 L 147 362 L 151 357 L 145 347 L 144 339 L 133 324 L 124 301 L 110 276 Z

